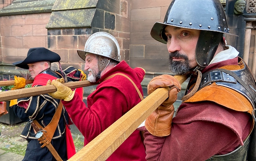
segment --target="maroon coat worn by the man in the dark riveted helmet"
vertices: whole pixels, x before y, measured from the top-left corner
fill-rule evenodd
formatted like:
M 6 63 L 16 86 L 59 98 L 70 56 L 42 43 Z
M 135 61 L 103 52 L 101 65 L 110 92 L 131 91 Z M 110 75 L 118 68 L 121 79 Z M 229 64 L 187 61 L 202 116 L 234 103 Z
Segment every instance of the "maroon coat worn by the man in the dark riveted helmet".
M 226 65 L 237 65 L 238 59 L 213 63 L 202 73 Z M 226 96 L 230 97 L 231 96 Z M 205 161 L 215 154 L 227 154 L 243 144 L 252 126 L 247 112 L 231 110 L 211 101 L 182 103 L 172 120 L 167 137 L 144 133 L 146 159 L 150 161 Z M 146 128 L 144 129 L 146 130 Z

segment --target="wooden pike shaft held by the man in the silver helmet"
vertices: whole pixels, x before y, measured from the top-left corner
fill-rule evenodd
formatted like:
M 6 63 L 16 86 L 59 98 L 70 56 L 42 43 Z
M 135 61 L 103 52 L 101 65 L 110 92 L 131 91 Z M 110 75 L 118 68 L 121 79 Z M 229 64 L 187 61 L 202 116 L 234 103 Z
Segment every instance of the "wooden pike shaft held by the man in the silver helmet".
M 91 83 L 88 80 L 68 82 L 63 84 L 67 87 L 70 87 L 71 89 L 96 85 L 96 83 Z M 3 92 L 0 92 L 0 102 L 9 101 L 17 98 L 25 98 L 25 97 L 30 97 L 30 96 L 40 95 L 40 94 L 52 93 L 55 91 L 57 91 L 57 89 L 53 85 L 39 86 L 39 87 L 32 87 L 32 88 L 18 89 L 18 90 L 11 90 L 11 91 L 3 91 Z

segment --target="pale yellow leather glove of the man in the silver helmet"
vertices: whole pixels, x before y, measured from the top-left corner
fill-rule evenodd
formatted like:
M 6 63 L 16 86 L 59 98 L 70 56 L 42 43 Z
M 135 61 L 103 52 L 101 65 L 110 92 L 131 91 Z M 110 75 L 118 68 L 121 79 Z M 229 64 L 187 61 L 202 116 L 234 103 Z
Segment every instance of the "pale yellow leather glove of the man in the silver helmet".
M 63 99 L 64 101 L 70 101 L 75 94 L 75 91 L 72 91 L 69 87 L 64 86 L 62 83 L 64 79 L 48 80 L 46 86 L 54 85 L 57 88 L 56 92 L 48 93 L 50 96 L 56 99 Z

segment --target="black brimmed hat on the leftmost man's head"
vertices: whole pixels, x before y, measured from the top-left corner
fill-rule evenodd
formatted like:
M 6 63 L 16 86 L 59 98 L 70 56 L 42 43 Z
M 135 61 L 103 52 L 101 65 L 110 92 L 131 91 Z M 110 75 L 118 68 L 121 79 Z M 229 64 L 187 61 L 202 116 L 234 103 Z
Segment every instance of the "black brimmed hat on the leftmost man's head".
M 27 64 L 43 61 L 47 61 L 50 63 L 59 62 L 60 55 L 44 47 L 35 47 L 29 49 L 29 51 L 27 52 L 27 58 L 25 60 L 12 64 L 23 69 L 29 69 L 29 66 Z

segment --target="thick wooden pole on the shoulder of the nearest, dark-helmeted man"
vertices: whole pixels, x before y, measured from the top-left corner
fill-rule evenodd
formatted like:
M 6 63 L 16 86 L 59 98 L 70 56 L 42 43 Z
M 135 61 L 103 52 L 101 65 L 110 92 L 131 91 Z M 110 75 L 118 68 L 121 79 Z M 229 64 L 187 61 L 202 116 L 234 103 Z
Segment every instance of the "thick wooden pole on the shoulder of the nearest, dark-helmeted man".
M 174 76 L 182 84 L 189 75 Z M 170 88 L 158 88 L 124 114 L 68 161 L 106 160 L 136 128 L 169 97 Z

